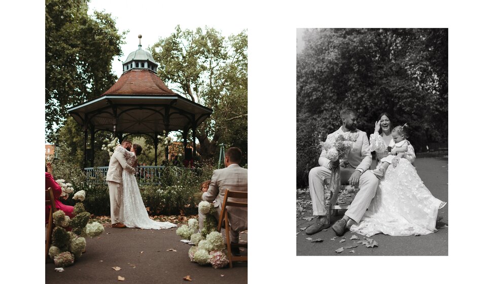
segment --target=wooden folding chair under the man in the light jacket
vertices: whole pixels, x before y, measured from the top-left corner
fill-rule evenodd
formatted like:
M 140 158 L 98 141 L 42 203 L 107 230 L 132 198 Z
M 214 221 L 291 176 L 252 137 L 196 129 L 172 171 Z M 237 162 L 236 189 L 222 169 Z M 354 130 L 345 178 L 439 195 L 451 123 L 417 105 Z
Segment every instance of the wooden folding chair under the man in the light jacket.
M 233 261 L 247 261 L 246 256 L 233 256 L 231 253 L 231 246 L 233 247 L 247 247 L 247 243 L 235 243 L 232 244 L 230 240 L 230 222 L 228 220 L 228 210 L 226 209 L 226 206 L 231 206 L 231 207 L 247 207 L 247 202 L 239 202 L 239 201 L 228 201 L 228 198 L 240 198 L 240 199 L 247 199 L 247 192 L 245 191 L 230 191 L 226 190 L 225 195 L 224 195 L 224 200 L 223 200 L 223 207 L 221 209 L 221 215 L 219 217 L 219 224 L 218 224 L 218 232 L 221 232 L 221 227 L 223 226 L 223 221 L 224 221 L 224 228 L 225 228 L 225 233 L 226 233 L 226 246 L 228 247 L 228 259 L 230 261 L 230 268 L 233 268 Z

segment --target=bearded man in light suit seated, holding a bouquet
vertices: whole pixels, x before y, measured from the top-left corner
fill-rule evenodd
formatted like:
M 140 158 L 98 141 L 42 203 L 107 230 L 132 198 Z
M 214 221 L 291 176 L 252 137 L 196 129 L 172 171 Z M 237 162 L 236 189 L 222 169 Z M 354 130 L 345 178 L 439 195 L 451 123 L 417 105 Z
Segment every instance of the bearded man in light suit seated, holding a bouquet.
M 352 149 L 340 160 L 340 181 L 347 182 L 350 185 L 358 186 L 359 192 L 350 204 L 342 219 L 337 221 L 332 229 L 337 236 L 345 233 L 345 228 L 351 226 L 354 222 L 361 221 L 366 209 L 376 194 L 378 179 L 369 170 L 371 165 L 371 149 L 366 132 L 356 129 L 357 112 L 352 109 L 344 109 L 340 112 L 342 126 L 332 134 L 329 134 L 327 140 L 333 135 L 341 134 L 347 131 L 359 132 L 356 142 Z M 305 233 L 308 235 L 315 234 L 331 226 L 327 217 L 325 206 L 324 181 L 330 178 L 331 168 L 338 166 L 337 162 L 332 162 L 325 157 L 325 151 L 319 156 L 319 166 L 309 171 L 309 192 L 312 199 L 313 215 L 318 216 L 316 222 L 307 227 Z

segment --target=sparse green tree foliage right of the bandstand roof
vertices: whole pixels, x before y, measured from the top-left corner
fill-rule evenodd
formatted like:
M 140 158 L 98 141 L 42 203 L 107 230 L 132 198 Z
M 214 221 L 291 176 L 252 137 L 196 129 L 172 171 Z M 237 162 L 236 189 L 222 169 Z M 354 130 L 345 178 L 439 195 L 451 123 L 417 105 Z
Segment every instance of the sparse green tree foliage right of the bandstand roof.
M 160 39 L 150 51 L 159 63 L 159 77 L 173 91 L 213 110 L 197 128 L 197 151 L 202 159 L 213 158 L 221 143 L 240 148 L 246 158 L 245 31 L 226 39 L 214 28 L 193 31 L 176 26 L 173 34 Z

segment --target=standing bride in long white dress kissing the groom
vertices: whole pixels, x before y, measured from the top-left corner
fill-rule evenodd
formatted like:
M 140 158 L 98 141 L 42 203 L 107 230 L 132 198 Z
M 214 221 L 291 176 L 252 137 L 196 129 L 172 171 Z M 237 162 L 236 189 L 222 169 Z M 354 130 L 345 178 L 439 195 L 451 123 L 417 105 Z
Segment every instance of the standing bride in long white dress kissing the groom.
M 126 162 L 133 165 L 133 167 L 136 167 L 136 156 L 141 154 L 141 146 L 133 144 L 131 152 L 118 146 L 115 151 L 122 152 L 126 157 Z M 134 174 L 127 170 L 123 170 L 122 179 L 124 207 L 122 214 L 122 216 L 124 216 L 124 222 L 122 223 L 126 227 L 156 230 L 177 227 L 175 224 L 169 222 L 157 222 L 150 219 L 147 209 L 145 209 L 145 205 L 143 204 L 143 200 L 141 199 L 140 190 Z

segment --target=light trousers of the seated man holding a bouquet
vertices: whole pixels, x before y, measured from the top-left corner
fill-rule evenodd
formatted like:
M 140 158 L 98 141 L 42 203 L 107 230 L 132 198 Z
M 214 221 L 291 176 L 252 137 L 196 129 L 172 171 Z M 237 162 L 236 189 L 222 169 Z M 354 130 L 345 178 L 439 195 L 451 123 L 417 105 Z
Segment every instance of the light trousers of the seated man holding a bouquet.
M 354 172 L 354 168 L 340 168 L 340 183 L 344 184 Z M 313 215 L 325 216 L 328 214 L 325 203 L 325 181 L 330 179 L 331 170 L 324 166 L 312 168 L 309 171 L 309 192 L 312 199 Z M 378 179 L 370 170 L 361 174 L 359 192 L 348 207 L 345 215 L 359 223 L 366 209 L 376 194 Z

